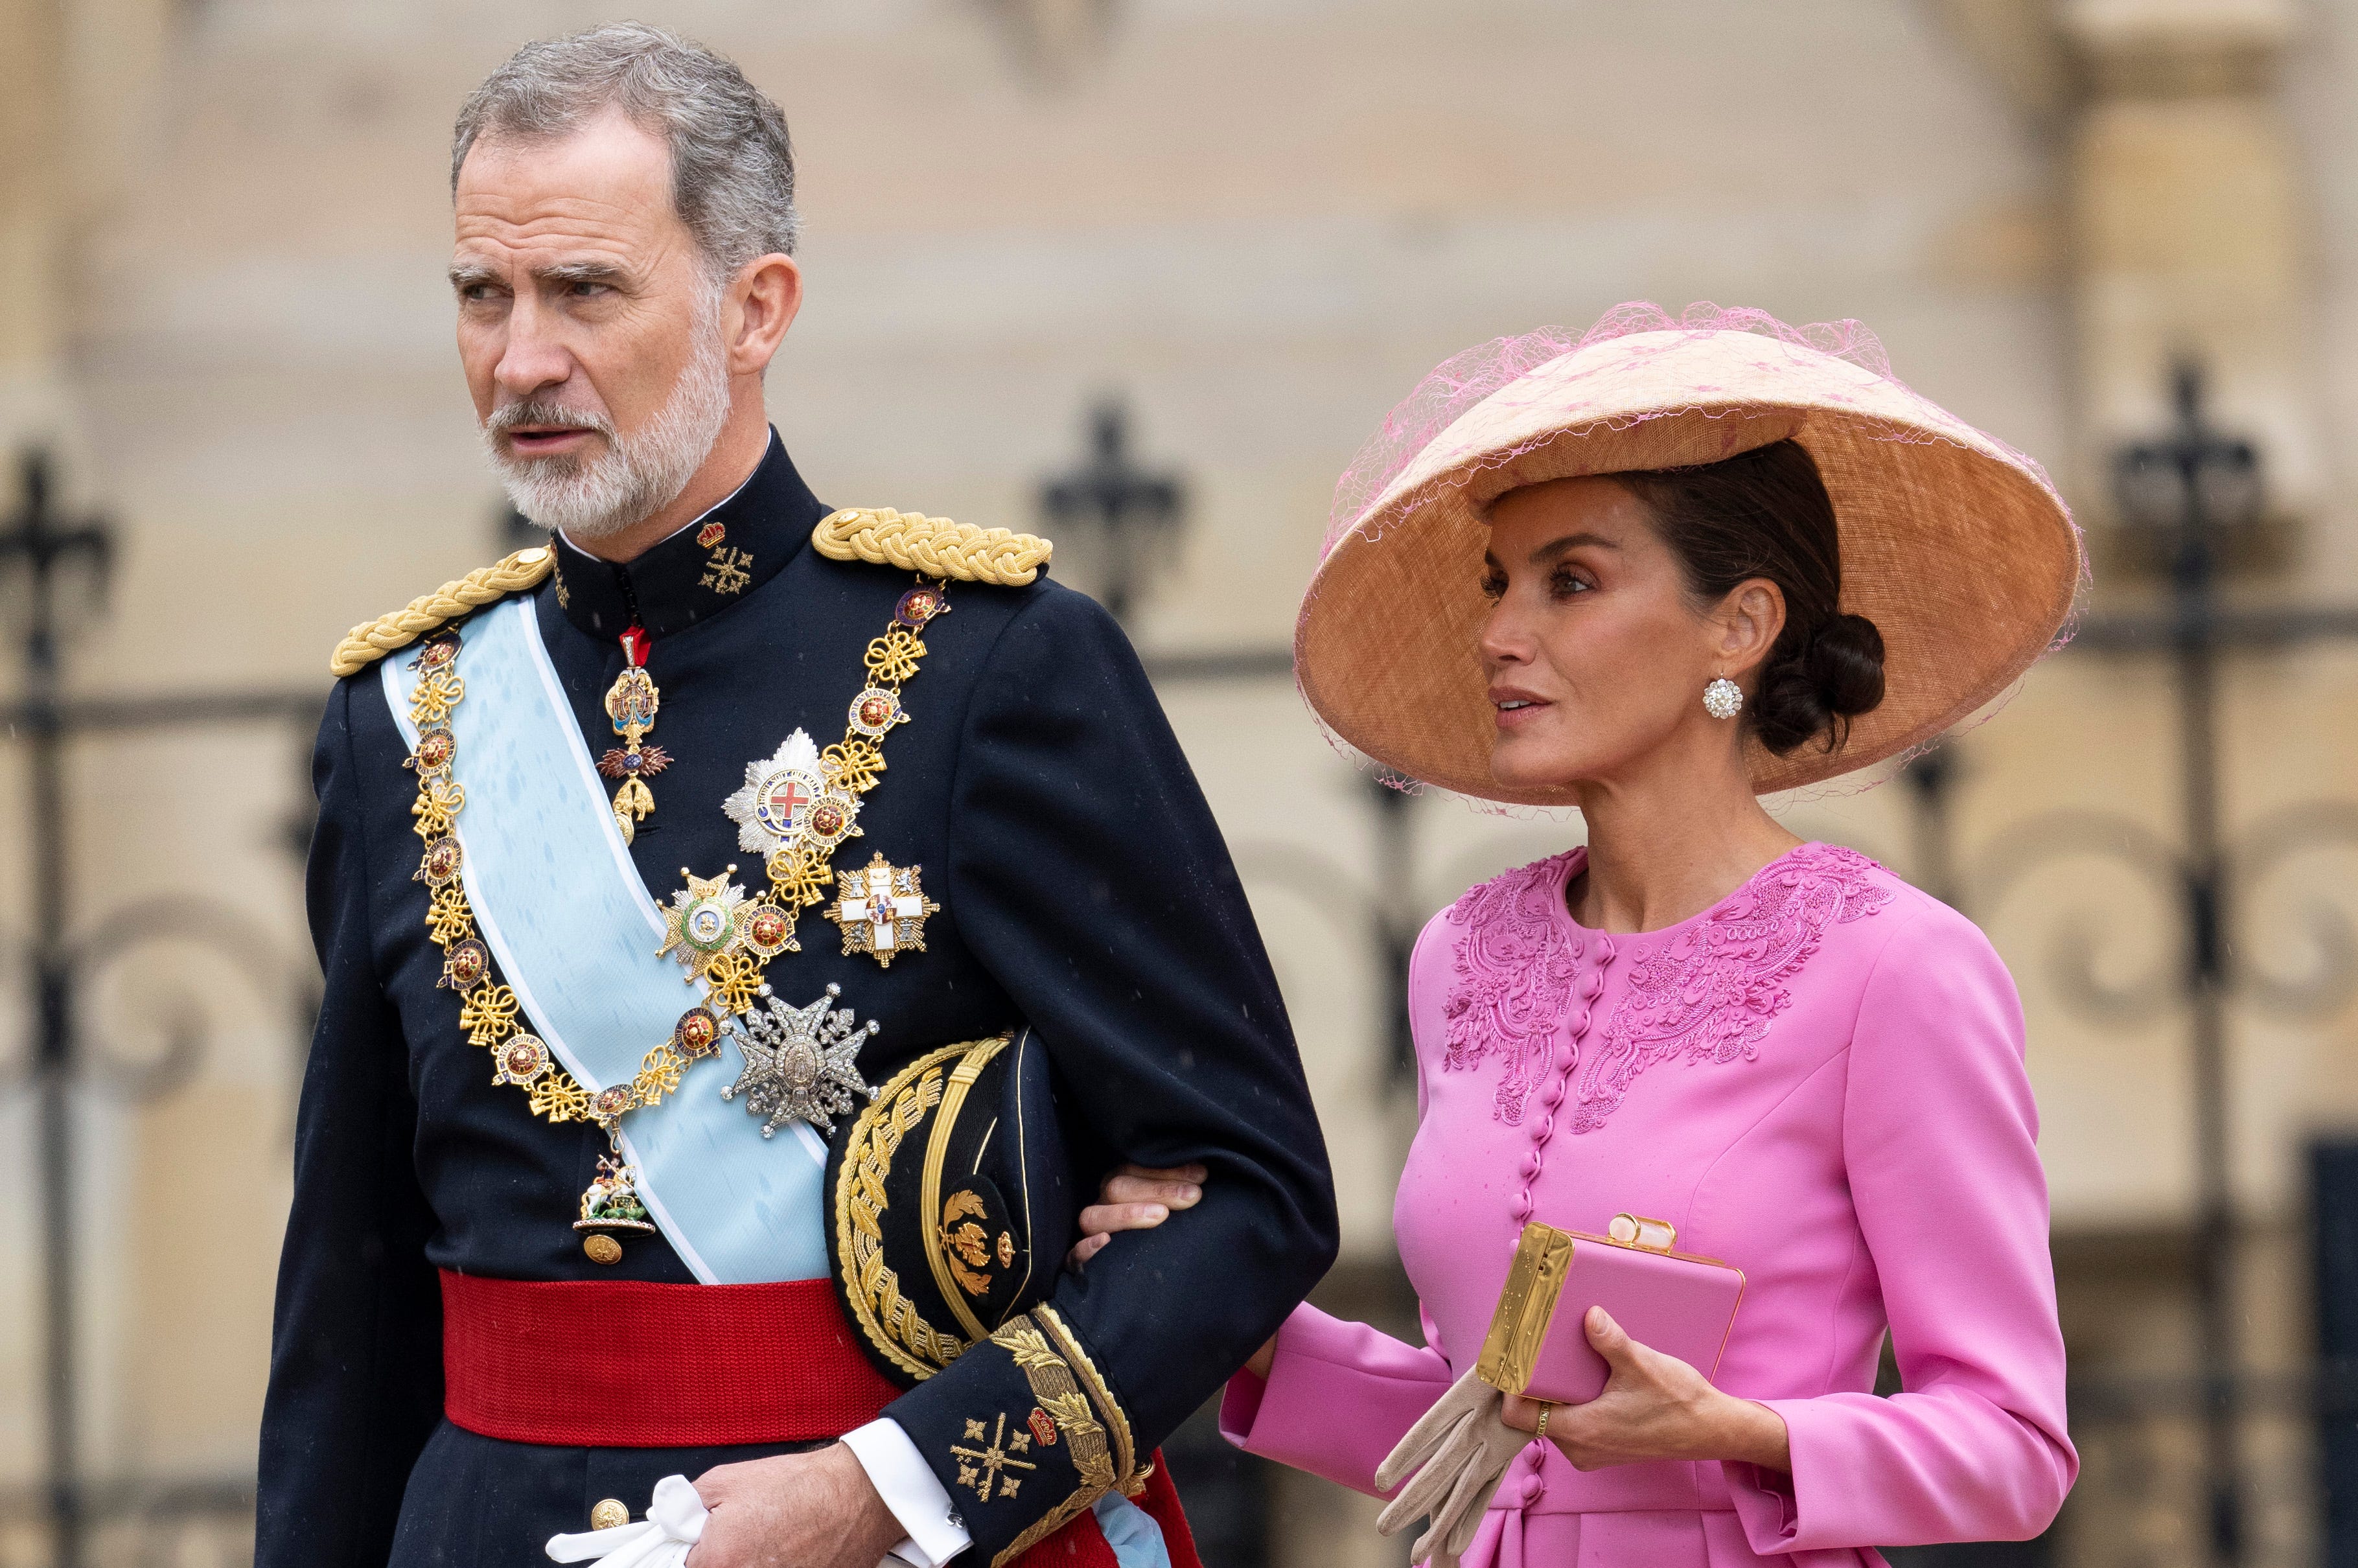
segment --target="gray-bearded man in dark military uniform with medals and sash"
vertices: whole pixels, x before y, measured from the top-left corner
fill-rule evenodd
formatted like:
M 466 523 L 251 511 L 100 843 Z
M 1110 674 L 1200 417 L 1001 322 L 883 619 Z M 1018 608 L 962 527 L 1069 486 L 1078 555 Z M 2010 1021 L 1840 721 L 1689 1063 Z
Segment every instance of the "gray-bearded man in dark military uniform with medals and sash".
M 552 542 L 337 648 L 259 1568 L 1184 1568 L 1153 1448 L 1335 1212 L 1137 658 L 1045 540 L 804 486 L 792 153 L 731 64 L 531 45 L 453 191 Z M 1061 1269 L 1118 1162 L 1210 1181 Z

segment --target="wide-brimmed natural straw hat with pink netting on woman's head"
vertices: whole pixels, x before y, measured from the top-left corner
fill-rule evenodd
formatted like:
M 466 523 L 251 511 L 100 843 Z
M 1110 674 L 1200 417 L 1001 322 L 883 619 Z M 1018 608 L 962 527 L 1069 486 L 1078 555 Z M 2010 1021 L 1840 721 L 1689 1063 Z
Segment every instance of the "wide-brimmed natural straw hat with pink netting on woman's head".
M 1580 474 L 1672 469 L 1792 439 L 1842 533 L 1842 608 L 1884 634 L 1884 700 L 1837 752 L 1752 740 L 1757 792 L 1884 762 L 1988 707 L 2059 644 L 2084 578 L 2047 474 L 1891 377 L 1853 321 L 1625 304 L 1429 375 L 1335 493 L 1295 622 L 1295 679 L 1335 736 L 1408 778 L 1526 806 L 1566 788 L 1490 776 L 1497 733 L 1476 639 L 1486 509 Z M 1700 691 L 1695 693 L 1700 700 Z

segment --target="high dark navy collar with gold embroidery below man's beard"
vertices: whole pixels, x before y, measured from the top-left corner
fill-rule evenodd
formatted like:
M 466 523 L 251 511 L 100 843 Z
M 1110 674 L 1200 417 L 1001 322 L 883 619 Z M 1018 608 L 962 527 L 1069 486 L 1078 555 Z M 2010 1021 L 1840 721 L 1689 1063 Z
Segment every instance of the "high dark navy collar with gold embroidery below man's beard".
M 736 493 L 632 561 L 601 561 L 556 535 L 556 606 L 601 641 L 630 627 L 653 639 L 726 615 L 795 559 L 828 514 L 778 431 Z

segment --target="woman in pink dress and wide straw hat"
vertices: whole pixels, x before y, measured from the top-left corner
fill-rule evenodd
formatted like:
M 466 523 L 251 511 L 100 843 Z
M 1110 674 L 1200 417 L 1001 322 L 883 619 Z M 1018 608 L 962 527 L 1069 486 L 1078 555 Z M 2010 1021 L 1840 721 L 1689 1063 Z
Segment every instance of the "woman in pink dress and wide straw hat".
M 1410 960 L 1394 1231 L 1424 1344 L 1297 1309 L 1229 1384 L 1233 1443 L 1398 1490 L 1387 1530 L 1429 1516 L 1415 1556 L 1481 1568 L 1832 1568 L 2047 1528 L 2077 1457 L 2014 983 L 1962 915 L 1757 797 L 1990 705 L 2080 578 L 2044 474 L 1851 323 L 1625 307 L 1394 413 L 1339 490 L 1302 691 L 1405 778 L 1578 806 L 1587 846 L 1467 891 Z M 1155 1177 L 1085 1228 L 1184 1207 Z M 1592 1311 L 1611 1379 L 1535 1438 L 1540 1408 L 1471 1377 L 1509 1257 L 1528 1219 L 1618 1212 L 1745 1271 L 1733 1332 L 1698 1370 Z

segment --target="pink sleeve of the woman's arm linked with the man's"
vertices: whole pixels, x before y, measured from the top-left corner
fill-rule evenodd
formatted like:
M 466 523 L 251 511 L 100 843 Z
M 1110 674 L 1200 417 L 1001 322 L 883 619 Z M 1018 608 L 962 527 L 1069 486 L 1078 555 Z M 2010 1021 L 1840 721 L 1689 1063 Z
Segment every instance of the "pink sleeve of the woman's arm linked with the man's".
M 1245 1452 L 1375 1495 L 1375 1467 L 1450 1386 L 1438 1351 L 1297 1306 L 1264 1384 L 1229 1379 L 1219 1431 Z

